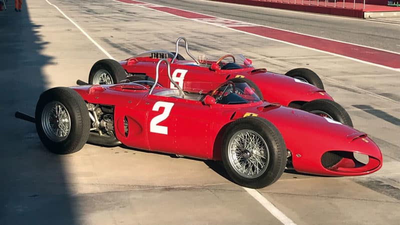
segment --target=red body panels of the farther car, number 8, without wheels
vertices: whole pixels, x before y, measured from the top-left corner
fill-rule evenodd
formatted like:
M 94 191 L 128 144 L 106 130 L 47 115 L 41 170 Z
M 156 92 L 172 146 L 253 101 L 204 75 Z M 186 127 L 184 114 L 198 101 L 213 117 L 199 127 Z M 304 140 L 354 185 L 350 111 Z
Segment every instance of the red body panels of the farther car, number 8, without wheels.
M 154 79 L 154 68 L 158 60 L 150 56 L 139 56 L 120 61 L 120 64 L 128 74 L 145 74 Z M 171 58 L 168 61 L 171 61 Z M 196 66 L 194 61 L 175 60 L 170 64 L 172 74 L 175 73 L 172 78 L 184 91 L 206 93 L 227 79 L 245 77 L 258 86 L 264 100 L 279 102 L 285 106 L 288 106 L 290 102 L 308 102 L 321 98 L 333 100 L 322 89 L 286 75 L 268 72 L 266 69 L 255 69 L 252 66 L 240 64 L 242 68 L 212 70 L 209 65 L 215 61 L 206 62 L 207 66 L 205 61 L 200 61 L 200 66 Z M 166 76 L 165 64 L 160 65 L 160 74 L 158 82 L 163 86 L 174 88 Z

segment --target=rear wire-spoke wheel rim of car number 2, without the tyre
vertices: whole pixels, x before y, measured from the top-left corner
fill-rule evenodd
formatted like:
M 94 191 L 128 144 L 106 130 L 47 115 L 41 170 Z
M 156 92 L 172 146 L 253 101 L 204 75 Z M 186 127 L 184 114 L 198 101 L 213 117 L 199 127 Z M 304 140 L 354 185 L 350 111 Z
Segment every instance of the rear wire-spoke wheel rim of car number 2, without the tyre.
M 41 114 L 41 125 L 46 136 L 52 141 L 65 140 L 71 130 L 68 110 L 59 101 L 48 102 Z

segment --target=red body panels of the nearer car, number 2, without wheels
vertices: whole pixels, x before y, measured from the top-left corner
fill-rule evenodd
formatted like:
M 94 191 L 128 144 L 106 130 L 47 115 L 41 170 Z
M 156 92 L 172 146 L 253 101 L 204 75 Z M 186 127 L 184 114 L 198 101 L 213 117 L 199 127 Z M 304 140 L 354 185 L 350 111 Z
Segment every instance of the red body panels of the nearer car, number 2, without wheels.
M 363 175 L 378 170 L 382 165 L 379 148 L 365 133 L 279 104 L 255 101 L 206 105 L 199 100 L 156 95 L 161 91 L 175 90 L 161 86 L 156 86 L 152 94 L 148 94 L 147 88 L 134 83 L 71 88 L 86 102 L 113 105 L 115 136 L 124 145 L 134 148 L 220 160 L 223 127 L 250 112 L 277 127 L 291 152 L 293 168 L 299 172 Z M 129 127 L 127 136 L 124 132 L 125 117 Z M 323 166 L 321 158 L 327 151 L 338 152 L 341 160 Z M 367 155 L 368 162 L 358 162 L 352 152 Z

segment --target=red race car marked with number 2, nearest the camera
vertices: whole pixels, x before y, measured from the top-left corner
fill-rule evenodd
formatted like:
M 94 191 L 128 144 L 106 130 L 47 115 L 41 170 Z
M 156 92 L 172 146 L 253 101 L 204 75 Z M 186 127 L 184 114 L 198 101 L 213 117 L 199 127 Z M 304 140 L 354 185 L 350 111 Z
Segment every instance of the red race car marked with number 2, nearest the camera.
M 176 88 L 158 84 L 162 63 Z M 35 122 L 40 140 L 55 153 L 90 142 L 222 160 L 234 182 L 251 188 L 275 182 L 285 166 L 331 176 L 363 175 L 382 166 L 378 146 L 350 126 L 262 101 L 245 82 L 227 80 L 206 94 L 185 93 L 171 78 L 169 60 L 155 67 L 154 82 L 48 89 L 35 117 L 15 116 Z

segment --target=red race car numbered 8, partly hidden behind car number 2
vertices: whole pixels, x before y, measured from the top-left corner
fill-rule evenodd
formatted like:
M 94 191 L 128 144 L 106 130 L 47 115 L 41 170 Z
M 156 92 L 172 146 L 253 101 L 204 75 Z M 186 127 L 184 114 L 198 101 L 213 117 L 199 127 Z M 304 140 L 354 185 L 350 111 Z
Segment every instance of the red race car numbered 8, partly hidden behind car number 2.
M 185 42 L 190 60 L 185 60 L 178 53 L 180 40 Z M 155 64 L 160 58 L 168 58 L 173 80 L 186 92 L 206 93 L 226 80 L 246 81 L 261 99 L 268 102 L 300 108 L 352 126 L 346 110 L 323 90 L 322 81 L 309 69 L 295 68 L 283 75 L 264 68 L 256 69 L 250 59 L 232 54 L 216 60 L 200 56 L 200 60 L 197 60 L 189 53 L 187 41 L 183 37 L 177 39 L 175 51 L 151 50 L 119 62 L 112 59 L 99 60 L 92 66 L 88 82 L 112 84 L 123 79 L 154 81 Z M 162 64 L 160 68 L 160 72 L 165 74 L 166 65 Z M 161 76 L 159 82 L 165 87 L 174 88 L 166 75 Z

